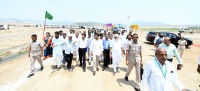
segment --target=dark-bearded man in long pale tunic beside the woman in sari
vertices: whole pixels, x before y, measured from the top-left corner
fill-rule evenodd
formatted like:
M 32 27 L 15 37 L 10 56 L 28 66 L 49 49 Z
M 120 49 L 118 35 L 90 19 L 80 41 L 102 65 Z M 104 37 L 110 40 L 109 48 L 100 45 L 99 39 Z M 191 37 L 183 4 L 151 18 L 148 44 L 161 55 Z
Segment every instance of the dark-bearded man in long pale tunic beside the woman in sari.
M 55 32 L 55 37 L 52 40 L 53 47 L 53 60 L 56 62 L 55 69 L 60 69 L 61 60 L 63 57 L 63 45 L 65 41 L 63 38 L 59 38 L 59 32 Z

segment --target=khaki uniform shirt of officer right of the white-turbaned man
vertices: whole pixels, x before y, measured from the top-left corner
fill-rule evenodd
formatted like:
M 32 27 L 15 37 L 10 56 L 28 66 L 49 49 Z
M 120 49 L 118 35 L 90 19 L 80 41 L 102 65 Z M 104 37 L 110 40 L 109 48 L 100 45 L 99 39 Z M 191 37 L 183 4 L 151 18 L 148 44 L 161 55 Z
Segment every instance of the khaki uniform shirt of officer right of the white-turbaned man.
M 129 61 L 140 61 L 140 51 L 142 51 L 142 45 L 140 43 L 134 43 L 133 41 L 128 42 L 126 50 L 129 51 L 128 60 Z

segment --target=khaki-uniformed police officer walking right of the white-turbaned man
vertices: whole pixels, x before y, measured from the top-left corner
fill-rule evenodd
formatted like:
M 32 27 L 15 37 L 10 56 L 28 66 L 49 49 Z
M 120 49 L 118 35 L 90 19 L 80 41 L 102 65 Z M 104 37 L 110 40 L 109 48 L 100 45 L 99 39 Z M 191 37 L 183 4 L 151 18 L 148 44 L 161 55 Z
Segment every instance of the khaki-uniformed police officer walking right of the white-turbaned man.
M 142 64 L 142 45 L 138 43 L 138 35 L 133 34 L 133 40 L 127 44 L 126 47 L 126 65 L 128 66 L 128 71 L 125 75 L 125 80 L 128 81 L 128 76 L 131 70 L 135 66 L 136 68 L 136 82 L 137 86 L 135 90 L 140 90 L 140 65 Z

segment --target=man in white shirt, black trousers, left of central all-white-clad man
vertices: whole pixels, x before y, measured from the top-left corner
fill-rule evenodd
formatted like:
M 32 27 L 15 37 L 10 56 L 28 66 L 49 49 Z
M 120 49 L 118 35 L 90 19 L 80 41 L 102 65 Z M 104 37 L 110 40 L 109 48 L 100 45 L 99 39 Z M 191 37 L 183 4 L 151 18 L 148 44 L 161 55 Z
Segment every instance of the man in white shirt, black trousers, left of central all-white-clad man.
M 80 59 L 80 67 L 81 66 L 83 67 L 84 72 L 86 71 L 85 56 L 86 56 L 86 51 L 87 51 L 86 47 L 88 45 L 88 42 L 85 37 L 86 37 L 86 34 L 83 33 L 82 38 L 79 41 L 79 49 L 78 49 L 79 59 Z

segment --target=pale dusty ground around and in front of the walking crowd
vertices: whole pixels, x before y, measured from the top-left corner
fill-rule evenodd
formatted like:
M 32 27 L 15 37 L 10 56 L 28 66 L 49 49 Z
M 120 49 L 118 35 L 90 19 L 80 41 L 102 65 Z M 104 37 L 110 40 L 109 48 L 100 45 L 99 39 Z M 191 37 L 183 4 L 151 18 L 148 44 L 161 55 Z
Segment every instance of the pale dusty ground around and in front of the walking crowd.
M 14 31 L 15 30 L 15 31 Z M 60 29 L 48 29 L 53 33 Z M 67 30 L 64 30 L 67 32 Z M 9 32 L 0 31 L 0 51 L 22 46 L 30 42 L 31 34 L 38 34 L 42 38 L 42 28 L 13 28 Z M 139 31 L 140 42 L 143 43 L 143 61 L 146 63 L 154 56 L 154 47 L 146 42 L 145 31 Z M 178 76 L 183 85 L 192 91 L 200 90 L 200 74 L 196 72 L 197 58 L 200 55 L 200 36 L 199 34 L 187 34 L 193 39 L 195 45 L 186 49 L 183 57 L 184 67 L 178 71 Z M 2 39 L 3 38 L 3 39 Z M 0 64 L 0 89 L 1 91 L 134 91 L 135 75 L 132 71 L 129 79 L 131 81 L 124 81 L 125 64 L 124 61 L 120 65 L 119 73 L 115 76 L 112 74 L 112 65 L 108 71 L 100 69 L 96 76 L 92 75 L 92 66 L 87 64 L 86 72 L 83 72 L 80 67 L 75 67 L 73 72 L 66 68 L 60 71 L 52 71 L 51 65 L 54 64 L 51 59 L 45 60 L 45 68 L 42 72 L 27 79 L 29 70 L 29 58 L 27 55 L 17 57 L 11 61 Z M 177 65 L 177 61 L 173 62 Z M 101 64 L 102 66 L 102 64 Z M 38 68 L 38 64 L 36 65 Z

